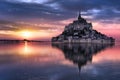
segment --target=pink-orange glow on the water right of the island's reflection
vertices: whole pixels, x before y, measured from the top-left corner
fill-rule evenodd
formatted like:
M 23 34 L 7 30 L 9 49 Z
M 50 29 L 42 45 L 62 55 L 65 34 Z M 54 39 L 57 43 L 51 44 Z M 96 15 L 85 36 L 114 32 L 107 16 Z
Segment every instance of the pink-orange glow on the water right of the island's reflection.
M 109 48 L 99 54 L 93 56 L 93 62 L 105 62 L 105 61 L 120 61 L 120 49 L 119 47 Z

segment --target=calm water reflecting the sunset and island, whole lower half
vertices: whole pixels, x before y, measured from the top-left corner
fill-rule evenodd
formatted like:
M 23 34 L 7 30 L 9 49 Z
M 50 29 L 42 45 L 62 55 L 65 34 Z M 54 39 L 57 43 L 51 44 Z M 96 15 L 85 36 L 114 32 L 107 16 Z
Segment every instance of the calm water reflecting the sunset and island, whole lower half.
M 0 80 L 120 80 L 120 45 L 0 43 Z

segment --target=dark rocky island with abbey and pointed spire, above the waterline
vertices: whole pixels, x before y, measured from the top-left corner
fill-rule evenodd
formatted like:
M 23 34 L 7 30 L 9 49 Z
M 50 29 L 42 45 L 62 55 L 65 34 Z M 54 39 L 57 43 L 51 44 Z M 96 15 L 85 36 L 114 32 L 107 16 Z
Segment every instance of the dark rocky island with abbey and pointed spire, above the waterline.
M 52 42 L 112 43 L 115 39 L 93 29 L 79 13 L 78 19 L 65 26 L 62 34 L 52 38 Z

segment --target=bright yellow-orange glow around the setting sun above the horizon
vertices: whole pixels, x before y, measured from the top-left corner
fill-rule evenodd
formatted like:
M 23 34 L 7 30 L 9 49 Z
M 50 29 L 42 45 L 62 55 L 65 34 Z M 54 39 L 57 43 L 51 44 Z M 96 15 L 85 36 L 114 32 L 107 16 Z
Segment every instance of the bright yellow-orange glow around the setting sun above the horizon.
M 28 40 L 48 40 L 53 36 L 60 34 L 59 31 L 53 33 L 52 31 L 44 30 L 22 30 L 15 33 L 15 37 L 19 39 L 28 39 Z

